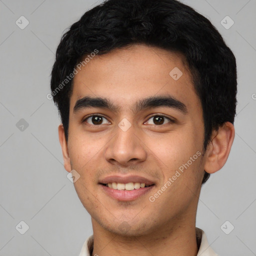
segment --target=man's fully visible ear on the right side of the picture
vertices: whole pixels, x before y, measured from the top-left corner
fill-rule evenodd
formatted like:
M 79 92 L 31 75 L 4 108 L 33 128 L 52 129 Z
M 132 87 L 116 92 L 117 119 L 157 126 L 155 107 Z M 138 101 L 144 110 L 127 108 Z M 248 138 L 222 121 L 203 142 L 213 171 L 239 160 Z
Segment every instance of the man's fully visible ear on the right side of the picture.
M 214 173 L 225 164 L 234 140 L 234 126 L 225 122 L 212 132 L 211 141 L 205 152 L 204 170 Z

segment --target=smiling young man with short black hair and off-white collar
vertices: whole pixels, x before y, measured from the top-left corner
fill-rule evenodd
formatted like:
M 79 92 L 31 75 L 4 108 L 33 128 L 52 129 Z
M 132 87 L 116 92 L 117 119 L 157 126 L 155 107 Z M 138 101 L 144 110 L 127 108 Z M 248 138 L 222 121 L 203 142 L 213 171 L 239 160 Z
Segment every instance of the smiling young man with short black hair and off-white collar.
M 236 64 L 176 0 L 108 0 L 63 35 L 51 90 L 64 166 L 91 215 L 87 255 L 213 256 L 201 184 L 234 138 Z

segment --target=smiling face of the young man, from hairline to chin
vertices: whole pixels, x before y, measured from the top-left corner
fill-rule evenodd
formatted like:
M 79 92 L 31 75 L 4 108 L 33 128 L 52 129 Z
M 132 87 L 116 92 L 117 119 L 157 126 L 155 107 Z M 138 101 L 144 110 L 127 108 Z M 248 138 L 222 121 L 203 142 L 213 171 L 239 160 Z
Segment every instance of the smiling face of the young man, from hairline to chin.
M 91 58 L 73 79 L 65 168 L 93 226 L 138 235 L 195 218 L 203 134 L 181 55 L 137 44 Z

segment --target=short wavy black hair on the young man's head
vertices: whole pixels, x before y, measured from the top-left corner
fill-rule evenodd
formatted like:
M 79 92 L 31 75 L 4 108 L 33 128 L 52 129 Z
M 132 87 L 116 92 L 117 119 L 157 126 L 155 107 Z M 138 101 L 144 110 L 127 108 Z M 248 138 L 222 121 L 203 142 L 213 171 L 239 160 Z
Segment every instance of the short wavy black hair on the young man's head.
M 105 54 L 135 43 L 178 52 L 185 57 L 202 106 L 205 151 L 212 130 L 226 121 L 234 122 L 235 57 L 207 18 L 177 0 L 105 0 L 86 11 L 62 35 L 50 86 L 66 141 L 73 79 L 69 78 L 64 85 L 63 80 L 82 57 L 95 49 L 97 54 Z M 204 172 L 202 183 L 209 175 Z

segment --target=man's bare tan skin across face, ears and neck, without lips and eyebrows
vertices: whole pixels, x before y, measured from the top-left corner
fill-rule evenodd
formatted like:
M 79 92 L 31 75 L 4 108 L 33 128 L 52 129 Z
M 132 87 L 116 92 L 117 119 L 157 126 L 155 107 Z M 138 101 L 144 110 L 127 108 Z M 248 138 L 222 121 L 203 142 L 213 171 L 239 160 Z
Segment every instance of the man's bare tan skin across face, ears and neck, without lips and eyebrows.
M 174 67 L 183 73 L 176 81 L 169 75 Z M 91 107 L 74 113 L 76 100 L 88 95 L 108 98 L 120 106 L 119 112 Z M 187 113 L 163 106 L 131 111 L 136 100 L 155 95 L 174 96 L 186 105 Z M 82 122 L 89 114 L 106 119 L 102 124 L 93 124 L 91 118 Z M 175 122 L 165 118 L 157 124 L 153 114 Z M 127 131 L 118 127 L 123 118 L 131 124 Z M 181 55 L 135 44 L 93 57 L 73 79 L 68 141 L 62 124 L 58 132 L 65 169 L 80 175 L 74 187 L 91 215 L 92 255 L 197 254 L 195 216 L 203 171 L 213 173 L 224 165 L 234 127 L 226 122 L 214 130 L 202 154 L 202 108 Z M 200 156 L 155 201 L 149 201 L 197 151 Z M 155 185 L 135 200 L 119 201 L 98 184 L 100 178 L 117 173 L 142 175 Z

